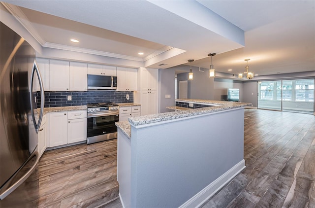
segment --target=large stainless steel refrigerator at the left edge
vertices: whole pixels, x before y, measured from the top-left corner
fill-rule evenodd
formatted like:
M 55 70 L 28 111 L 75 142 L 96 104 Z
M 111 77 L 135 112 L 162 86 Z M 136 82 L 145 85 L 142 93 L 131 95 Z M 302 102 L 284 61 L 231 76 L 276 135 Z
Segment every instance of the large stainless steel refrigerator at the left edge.
M 38 113 L 37 88 L 41 98 Z M 37 133 L 43 106 L 34 49 L 0 22 L 0 208 L 38 206 Z

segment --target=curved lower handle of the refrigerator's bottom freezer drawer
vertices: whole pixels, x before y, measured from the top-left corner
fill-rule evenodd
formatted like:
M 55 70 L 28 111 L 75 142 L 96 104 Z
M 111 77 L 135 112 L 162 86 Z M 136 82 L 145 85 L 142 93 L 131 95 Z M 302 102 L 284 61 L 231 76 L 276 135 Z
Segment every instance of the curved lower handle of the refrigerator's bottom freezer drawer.
M 34 163 L 34 165 L 32 166 L 32 168 L 25 173 L 18 181 L 16 181 L 13 185 L 11 185 L 8 189 L 6 189 L 1 195 L 0 195 L 0 200 L 3 200 L 5 197 L 7 197 L 9 194 L 11 194 L 17 187 L 19 187 L 32 173 L 33 171 L 36 169 L 38 162 L 39 162 L 39 155 L 37 152 L 37 147 L 35 148 L 35 150 L 32 152 L 31 156 L 29 157 L 29 159 L 26 161 L 26 163 L 28 161 L 30 161 L 34 156 L 36 156 L 36 161 Z M 17 172 L 18 173 L 18 172 Z M 16 175 L 17 173 L 15 173 L 14 175 Z

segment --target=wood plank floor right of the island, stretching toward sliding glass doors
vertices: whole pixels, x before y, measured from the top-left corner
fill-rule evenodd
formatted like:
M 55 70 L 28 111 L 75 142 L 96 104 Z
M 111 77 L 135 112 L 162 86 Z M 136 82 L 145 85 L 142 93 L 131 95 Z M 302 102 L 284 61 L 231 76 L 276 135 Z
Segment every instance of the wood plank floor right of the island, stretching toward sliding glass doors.
M 315 116 L 245 110 L 246 169 L 202 208 L 315 208 Z

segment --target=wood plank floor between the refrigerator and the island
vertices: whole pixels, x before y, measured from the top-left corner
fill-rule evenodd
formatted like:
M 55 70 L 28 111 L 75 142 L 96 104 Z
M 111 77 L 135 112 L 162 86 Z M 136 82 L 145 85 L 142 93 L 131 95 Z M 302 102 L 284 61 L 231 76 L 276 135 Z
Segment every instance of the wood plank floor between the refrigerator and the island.
M 39 162 L 39 208 L 121 208 L 117 139 L 46 151 Z

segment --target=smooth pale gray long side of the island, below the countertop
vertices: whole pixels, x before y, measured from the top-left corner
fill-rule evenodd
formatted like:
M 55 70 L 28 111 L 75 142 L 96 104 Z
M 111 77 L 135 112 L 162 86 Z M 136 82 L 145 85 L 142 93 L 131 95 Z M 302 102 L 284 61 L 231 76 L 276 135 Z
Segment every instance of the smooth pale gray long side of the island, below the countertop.
M 244 168 L 244 108 L 173 121 L 131 126 L 131 207 L 180 207 L 235 165 Z

